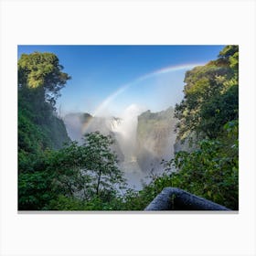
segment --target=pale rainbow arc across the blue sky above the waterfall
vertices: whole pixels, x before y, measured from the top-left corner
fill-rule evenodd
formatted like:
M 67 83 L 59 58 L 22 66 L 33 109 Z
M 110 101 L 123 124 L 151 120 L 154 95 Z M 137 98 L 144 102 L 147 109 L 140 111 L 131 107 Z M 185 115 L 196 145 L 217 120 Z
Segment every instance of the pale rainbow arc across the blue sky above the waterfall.
M 132 82 L 126 83 L 123 86 L 121 86 L 117 91 L 114 91 L 109 97 L 107 97 L 104 101 L 101 102 L 101 104 L 98 106 L 98 108 L 92 113 L 92 116 L 98 115 L 100 112 L 102 112 L 118 95 L 126 91 L 128 88 L 130 88 L 133 84 L 136 84 L 143 80 L 148 80 L 166 73 L 175 72 L 178 70 L 186 70 L 186 69 L 193 69 L 196 66 L 205 65 L 205 63 L 191 63 L 191 64 L 183 64 L 183 65 L 177 65 L 177 66 L 169 66 L 165 67 L 163 69 L 157 69 L 153 72 L 150 72 L 148 74 L 145 74 Z

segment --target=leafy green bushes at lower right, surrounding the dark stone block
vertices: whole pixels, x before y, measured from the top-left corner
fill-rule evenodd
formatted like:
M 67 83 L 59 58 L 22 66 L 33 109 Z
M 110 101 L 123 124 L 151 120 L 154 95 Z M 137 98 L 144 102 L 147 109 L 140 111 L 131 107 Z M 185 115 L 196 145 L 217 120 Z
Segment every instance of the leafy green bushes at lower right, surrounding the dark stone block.
M 151 175 L 141 191 L 128 190 L 123 208 L 143 210 L 165 187 L 179 187 L 231 209 L 239 208 L 238 121 L 224 125 L 219 140 L 205 139 L 197 150 L 180 151 L 163 162 L 165 172 Z

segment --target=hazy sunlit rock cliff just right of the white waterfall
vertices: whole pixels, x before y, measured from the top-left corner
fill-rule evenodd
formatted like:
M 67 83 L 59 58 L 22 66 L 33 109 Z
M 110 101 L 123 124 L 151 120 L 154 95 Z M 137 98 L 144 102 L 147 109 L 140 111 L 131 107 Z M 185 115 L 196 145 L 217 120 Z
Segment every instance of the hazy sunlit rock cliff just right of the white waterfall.
M 161 170 L 162 159 L 174 155 L 176 121 L 174 109 L 162 112 L 144 112 L 138 116 L 137 161 L 144 172 Z

